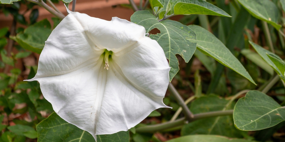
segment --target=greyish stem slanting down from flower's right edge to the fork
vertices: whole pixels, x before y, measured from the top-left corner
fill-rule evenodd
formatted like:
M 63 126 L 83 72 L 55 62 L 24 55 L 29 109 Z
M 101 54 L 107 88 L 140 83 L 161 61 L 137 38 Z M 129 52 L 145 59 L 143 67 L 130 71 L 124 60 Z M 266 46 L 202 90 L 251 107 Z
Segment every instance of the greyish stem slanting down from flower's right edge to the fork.
M 183 108 L 183 113 L 184 113 L 185 117 L 187 118 L 187 120 L 190 121 L 192 118 L 194 118 L 194 115 L 189 110 L 187 105 L 184 104 L 184 100 L 182 99 L 182 97 L 180 96 L 180 94 L 178 93 L 178 91 L 175 89 L 175 87 L 172 85 L 171 82 L 169 82 L 169 84 L 168 84 L 168 89 L 170 89 L 170 91 L 172 92 L 172 94 L 176 98 L 178 104 Z

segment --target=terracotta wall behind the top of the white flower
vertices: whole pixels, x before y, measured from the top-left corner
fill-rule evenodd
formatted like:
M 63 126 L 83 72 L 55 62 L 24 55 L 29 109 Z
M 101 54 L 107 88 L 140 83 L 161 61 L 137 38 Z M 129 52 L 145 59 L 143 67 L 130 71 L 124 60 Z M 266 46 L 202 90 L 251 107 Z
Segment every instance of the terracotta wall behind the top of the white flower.
M 134 0 L 137 4 L 139 0 Z M 119 17 L 122 19 L 130 20 L 133 11 L 131 9 L 123 8 L 120 4 L 128 4 L 128 0 L 77 0 L 76 2 L 76 9 L 75 11 L 86 13 L 89 16 L 97 17 L 105 20 L 111 20 L 112 17 Z M 67 14 L 66 8 L 62 1 L 59 1 L 58 4 L 55 4 L 56 7 L 65 15 Z M 70 4 L 70 9 L 72 4 Z M 54 17 L 50 14 L 46 9 L 37 6 L 39 10 L 39 17 L 38 20 L 42 20 L 44 18 L 48 18 L 50 20 L 51 17 Z M 25 7 L 21 7 L 20 13 L 24 13 Z M 24 16 L 26 20 L 29 18 L 30 11 L 28 11 Z M 0 13 L 0 28 L 5 26 L 10 27 L 12 24 L 13 17 L 11 15 L 5 16 L 3 13 Z M 51 21 L 51 20 L 50 20 Z M 17 25 L 23 26 L 23 25 Z

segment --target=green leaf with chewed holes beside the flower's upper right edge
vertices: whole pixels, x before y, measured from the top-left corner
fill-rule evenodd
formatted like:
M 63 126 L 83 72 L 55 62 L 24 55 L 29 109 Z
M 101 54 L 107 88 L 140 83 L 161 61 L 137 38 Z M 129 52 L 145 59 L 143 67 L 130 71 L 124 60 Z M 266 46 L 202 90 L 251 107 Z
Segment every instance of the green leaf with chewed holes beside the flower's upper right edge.
M 131 22 L 144 26 L 146 32 L 157 28 L 159 34 L 150 35 L 151 39 L 156 40 L 164 50 L 166 58 L 171 67 L 169 72 L 170 81 L 179 70 L 176 54 L 188 62 L 196 50 L 196 43 L 187 39 L 196 39 L 196 34 L 187 26 L 172 20 L 158 22 L 155 16 L 149 11 L 137 11 L 131 16 Z M 187 39 L 186 39 L 187 38 Z

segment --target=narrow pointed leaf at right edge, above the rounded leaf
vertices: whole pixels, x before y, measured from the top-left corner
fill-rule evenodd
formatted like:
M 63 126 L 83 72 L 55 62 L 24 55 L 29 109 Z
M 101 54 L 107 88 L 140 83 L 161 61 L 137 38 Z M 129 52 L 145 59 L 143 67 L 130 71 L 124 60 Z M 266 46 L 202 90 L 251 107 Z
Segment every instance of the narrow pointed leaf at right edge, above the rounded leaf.
M 277 57 L 279 60 L 282 60 L 280 57 L 278 57 L 276 54 L 262 48 L 261 46 L 249 41 L 249 43 L 252 45 L 252 47 L 255 49 L 255 51 L 257 51 L 257 53 L 262 57 L 262 59 L 265 60 L 265 62 L 267 62 L 274 70 L 275 72 L 277 72 L 277 74 L 279 76 L 284 76 L 284 74 L 282 74 L 280 72 L 280 70 L 278 69 L 278 67 L 270 60 L 270 58 L 267 56 L 267 54 L 271 54 L 274 55 L 275 57 Z

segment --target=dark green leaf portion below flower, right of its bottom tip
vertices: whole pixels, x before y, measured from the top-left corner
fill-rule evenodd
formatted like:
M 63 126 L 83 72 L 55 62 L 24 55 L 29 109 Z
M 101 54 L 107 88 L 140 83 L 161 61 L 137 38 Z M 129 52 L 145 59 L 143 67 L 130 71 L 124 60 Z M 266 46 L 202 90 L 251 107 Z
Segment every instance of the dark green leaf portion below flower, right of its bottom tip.
M 129 142 L 129 131 L 120 131 L 111 135 L 97 135 L 97 142 Z

